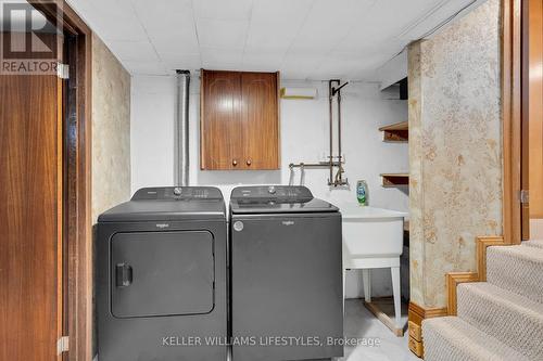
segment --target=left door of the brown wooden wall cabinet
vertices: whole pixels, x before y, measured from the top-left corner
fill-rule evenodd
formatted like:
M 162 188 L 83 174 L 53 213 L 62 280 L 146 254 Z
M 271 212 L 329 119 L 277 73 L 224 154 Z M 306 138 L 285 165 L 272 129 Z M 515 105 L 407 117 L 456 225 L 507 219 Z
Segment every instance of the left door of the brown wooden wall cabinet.
M 241 143 L 241 83 L 237 72 L 202 70 L 200 166 L 238 169 Z

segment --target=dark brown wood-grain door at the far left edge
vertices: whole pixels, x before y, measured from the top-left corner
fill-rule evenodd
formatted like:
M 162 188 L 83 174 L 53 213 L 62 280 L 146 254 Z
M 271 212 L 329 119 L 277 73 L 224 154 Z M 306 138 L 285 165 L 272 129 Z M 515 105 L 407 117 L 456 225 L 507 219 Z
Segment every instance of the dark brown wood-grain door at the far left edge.
M 61 83 L 53 75 L 0 75 L 0 360 L 56 360 Z

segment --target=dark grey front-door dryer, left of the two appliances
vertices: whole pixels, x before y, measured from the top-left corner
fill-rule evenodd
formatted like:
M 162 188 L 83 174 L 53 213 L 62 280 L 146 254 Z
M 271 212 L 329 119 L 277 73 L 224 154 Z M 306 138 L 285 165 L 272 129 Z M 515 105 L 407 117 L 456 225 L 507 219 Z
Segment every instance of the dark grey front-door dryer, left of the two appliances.
M 100 361 L 226 360 L 218 189 L 141 189 L 98 218 L 97 242 Z

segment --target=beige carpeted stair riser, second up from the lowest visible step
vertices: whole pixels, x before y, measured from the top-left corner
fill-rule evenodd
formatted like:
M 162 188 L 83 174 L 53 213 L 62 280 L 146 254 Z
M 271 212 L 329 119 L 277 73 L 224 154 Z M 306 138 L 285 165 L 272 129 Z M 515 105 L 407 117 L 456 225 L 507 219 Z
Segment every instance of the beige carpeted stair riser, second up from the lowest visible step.
M 533 360 L 543 360 L 543 314 L 459 286 L 458 317 Z

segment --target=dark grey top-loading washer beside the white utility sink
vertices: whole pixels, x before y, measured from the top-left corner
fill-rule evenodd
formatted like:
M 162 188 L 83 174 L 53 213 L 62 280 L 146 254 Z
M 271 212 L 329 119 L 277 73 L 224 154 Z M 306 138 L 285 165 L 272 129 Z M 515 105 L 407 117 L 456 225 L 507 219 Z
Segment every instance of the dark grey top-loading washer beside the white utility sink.
M 343 356 L 341 214 L 305 186 L 230 197 L 233 361 Z

